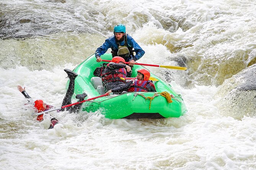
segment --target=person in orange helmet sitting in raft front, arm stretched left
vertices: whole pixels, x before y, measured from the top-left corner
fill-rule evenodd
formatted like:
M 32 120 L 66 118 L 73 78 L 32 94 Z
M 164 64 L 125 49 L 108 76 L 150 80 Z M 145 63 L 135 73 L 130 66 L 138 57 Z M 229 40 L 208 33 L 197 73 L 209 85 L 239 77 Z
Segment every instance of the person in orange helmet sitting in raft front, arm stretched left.
M 153 91 L 156 92 L 155 85 L 152 80 L 149 80 L 150 72 L 146 69 L 139 69 L 137 71 L 137 76 L 134 79 L 126 82 L 125 85 L 117 87 L 107 91 L 105 94 L 110 95 L 110 93 L 122 93 L 127 92 L 139 92 L 139 91 Z

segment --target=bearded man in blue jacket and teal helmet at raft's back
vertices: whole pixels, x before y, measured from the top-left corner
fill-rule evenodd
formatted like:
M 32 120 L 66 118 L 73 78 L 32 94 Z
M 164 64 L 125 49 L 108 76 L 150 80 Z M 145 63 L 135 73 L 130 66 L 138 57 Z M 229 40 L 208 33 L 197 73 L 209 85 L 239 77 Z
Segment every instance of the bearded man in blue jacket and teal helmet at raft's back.
M 124 58 L 126 62 L 129 62 L 129 66 L 134 66 L 135 61 L 140 59 L 145 51 L 139 46 L 137 42 L 128 34 L 126 34 L 126 26 L 118 24 L 114 27 L 114 35 L 105 40 L 101 47 L 95 51 L 95 57 L 97 62 L 101 62 L 100 56 L 105 54 L 106 51 L 111 48 L 112 56 L 120 56 Z M 132 50 L 134 49 L 134 50 Z M 133 51 L 136 53 L 134 56 Z M 131 77 L 132 72 L 128 72 L 127 77 Z

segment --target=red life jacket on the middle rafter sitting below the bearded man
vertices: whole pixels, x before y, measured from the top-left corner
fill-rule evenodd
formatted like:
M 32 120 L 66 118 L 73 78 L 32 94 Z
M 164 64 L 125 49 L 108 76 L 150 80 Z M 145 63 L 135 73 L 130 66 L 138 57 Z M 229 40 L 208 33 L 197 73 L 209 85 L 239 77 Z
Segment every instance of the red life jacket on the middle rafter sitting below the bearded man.
M 126 80 L 120 79 L 120 77 L 126 78 L 127 72 L 125 68 L 109 70 L 109 72 L 101 73 L 101 80 L 103 83 L 107 82 L 126 82 Z

